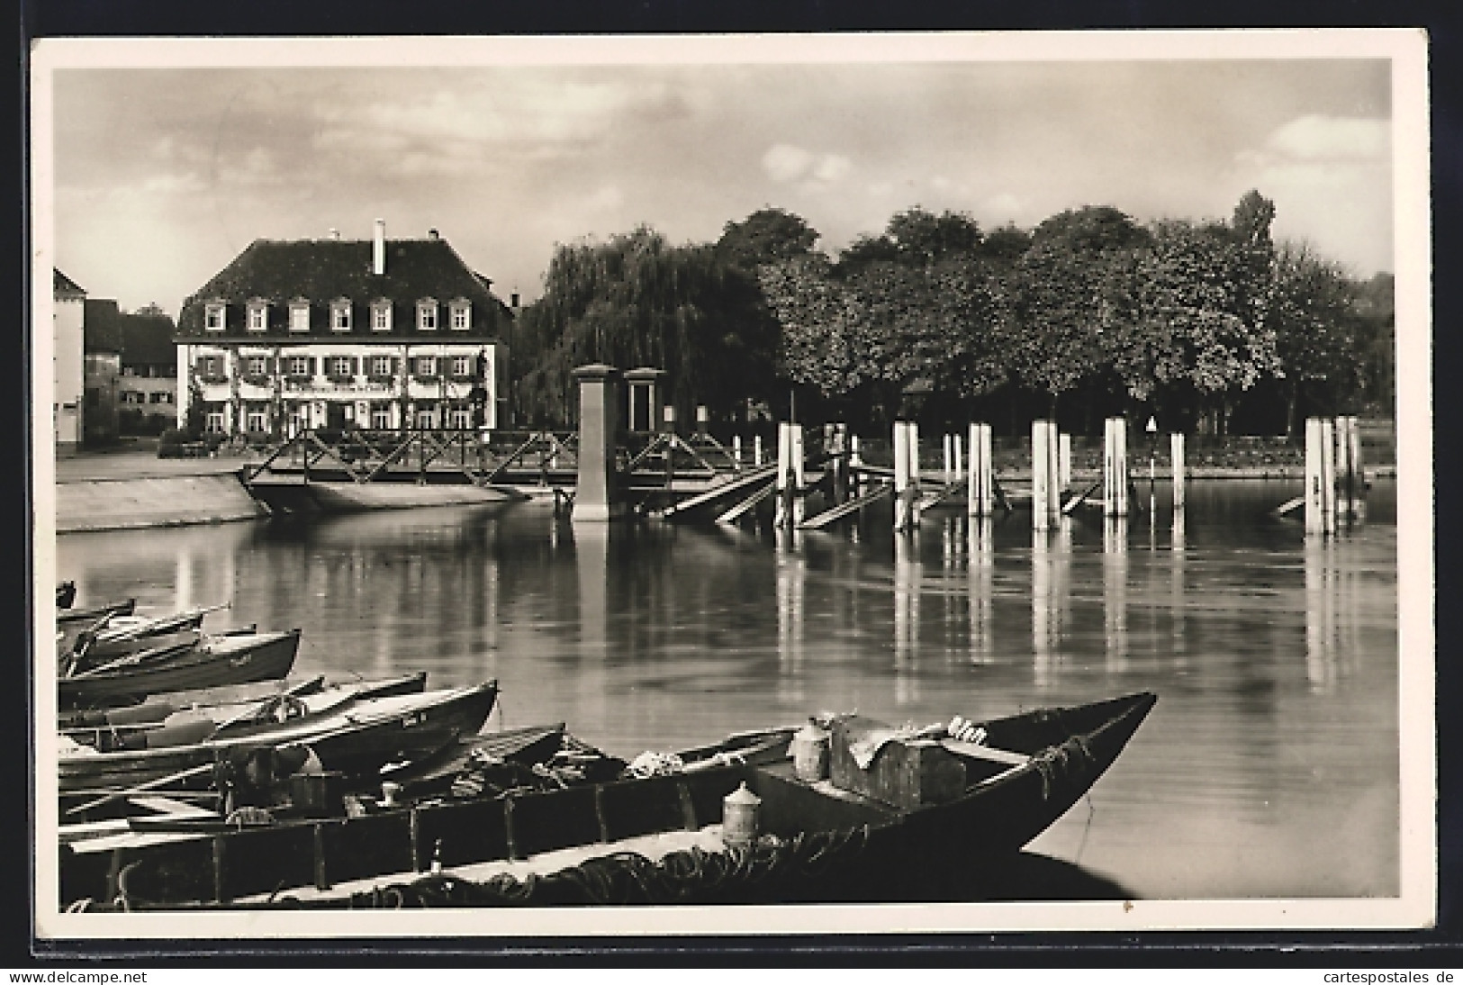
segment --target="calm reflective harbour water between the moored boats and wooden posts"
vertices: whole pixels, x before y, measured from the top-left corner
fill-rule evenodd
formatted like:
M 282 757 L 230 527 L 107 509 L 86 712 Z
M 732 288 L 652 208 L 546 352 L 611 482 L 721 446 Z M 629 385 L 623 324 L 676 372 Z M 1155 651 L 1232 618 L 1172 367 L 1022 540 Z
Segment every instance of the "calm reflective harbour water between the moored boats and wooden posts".
M 1331 543 L 1264 518 L 1298 492 L 1191 483 L 1182 533 L 935 511 L 911 540 L 884 511 L 796 537 L 404 511 L 70 534 L 59 574 L 78 604 L 303 626 L 297 672 L 497 678 L 489 727 L 563 720 L 620 755 L 818 710 L 925 724 L 1151 689 L 1034 850 L 1144 897 L 1394 896 L 1394 486 Z

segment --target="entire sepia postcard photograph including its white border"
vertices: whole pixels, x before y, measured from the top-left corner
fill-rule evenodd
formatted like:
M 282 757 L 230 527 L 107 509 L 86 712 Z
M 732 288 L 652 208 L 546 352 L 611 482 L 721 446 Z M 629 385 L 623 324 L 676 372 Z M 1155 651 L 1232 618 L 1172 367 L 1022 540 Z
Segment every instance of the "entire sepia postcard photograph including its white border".
M 37 935 L 1431 926 L 1426 53 L 37 42 Z

